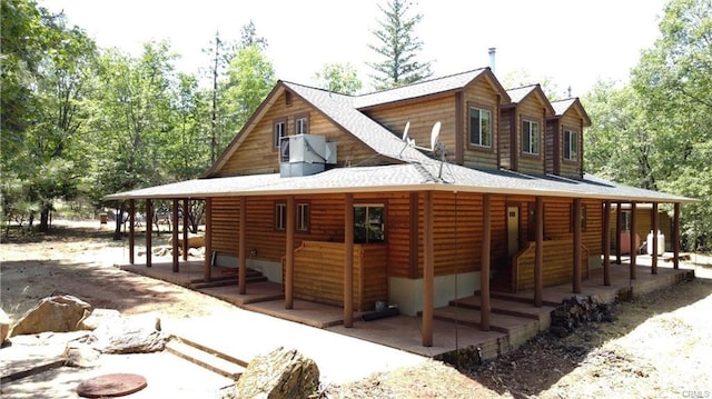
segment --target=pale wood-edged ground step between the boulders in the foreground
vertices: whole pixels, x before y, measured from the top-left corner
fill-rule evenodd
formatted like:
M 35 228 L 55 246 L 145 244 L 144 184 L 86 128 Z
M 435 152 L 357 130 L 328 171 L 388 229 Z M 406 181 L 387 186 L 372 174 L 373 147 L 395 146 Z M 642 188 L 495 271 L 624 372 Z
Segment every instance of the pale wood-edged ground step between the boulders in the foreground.
M 215 350 L 205 350 L 205 347 L 198 347 L 191 343 L 194 342 L 180 338 L 172 338 L 166 345 L 166 350 L 169 353 L 176 355 L 179 358 L 186 359 L 207 370 L 231 378 L 236 381 L 245 371 L 245 367 L 247 366 L 246 362 L 239 361 L 225 353 L 219 353 Z

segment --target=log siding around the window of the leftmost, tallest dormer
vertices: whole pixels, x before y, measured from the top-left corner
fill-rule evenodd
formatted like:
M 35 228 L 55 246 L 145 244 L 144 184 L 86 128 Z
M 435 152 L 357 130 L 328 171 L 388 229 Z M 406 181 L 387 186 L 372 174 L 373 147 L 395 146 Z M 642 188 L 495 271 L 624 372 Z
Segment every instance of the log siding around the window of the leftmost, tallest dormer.
M 469 109 L 467 102 L 486 106 L 492 110 L 492 150 L 477 150 L 469 143 Z M 490 86 L 485 78 L 475 80 L 468 86 L 463 96 L 463 164 L 468 168 L 497 169 L 500 157 L 497 142 L 500 140 L 500 103 L 498 93 Z M 453 111 L 454 112 L 454 111 Z

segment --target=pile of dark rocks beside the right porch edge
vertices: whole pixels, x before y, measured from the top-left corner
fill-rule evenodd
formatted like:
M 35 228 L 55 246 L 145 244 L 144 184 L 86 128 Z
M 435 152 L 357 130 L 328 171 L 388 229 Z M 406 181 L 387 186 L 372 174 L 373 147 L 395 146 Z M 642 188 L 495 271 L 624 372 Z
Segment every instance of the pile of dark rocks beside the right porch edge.
M 575 296 L 552 310 L 550 332 L 565 337 L 576 328 L 594 322 L 615 320 L 613 309 L 597 297 Z

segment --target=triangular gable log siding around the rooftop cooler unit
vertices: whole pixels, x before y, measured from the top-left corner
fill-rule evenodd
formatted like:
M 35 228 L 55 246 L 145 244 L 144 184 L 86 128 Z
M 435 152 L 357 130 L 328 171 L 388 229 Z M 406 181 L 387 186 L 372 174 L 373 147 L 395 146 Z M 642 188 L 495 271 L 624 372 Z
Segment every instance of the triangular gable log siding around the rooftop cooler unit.
M 309 133 L 326 137 L 326 141 L 337 142 L 337 166 L 347 160 L 352 164 L 378 164 L 380 157 L 350 134 L 344 133 L 329 119 L 317 112 L 307 102 L 293 96 L 291 106 L 286 106 L 285 94 L 277 97 L 265 116 L 249 134 L 241 139 L 239 148 L 225 166 L 217 171 L 220 177 L 238 174 L 275 173 L 279 171 L 278 152 L 273 143 L 273 123 L 287 118 L 287 134 L 295 133 L 295 117 L 308 112 Z

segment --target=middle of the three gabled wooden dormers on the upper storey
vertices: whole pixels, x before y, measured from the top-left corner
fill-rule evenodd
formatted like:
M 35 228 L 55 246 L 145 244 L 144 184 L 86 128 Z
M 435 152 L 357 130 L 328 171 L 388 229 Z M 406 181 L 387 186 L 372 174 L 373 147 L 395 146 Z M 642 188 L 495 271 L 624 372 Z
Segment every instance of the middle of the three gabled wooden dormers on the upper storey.
M 540 84 L 507 90 L 512 102 L 500 109 L 500 167 L 544 174 L 546 120 L 554 109 Z

